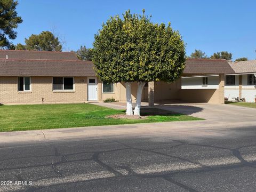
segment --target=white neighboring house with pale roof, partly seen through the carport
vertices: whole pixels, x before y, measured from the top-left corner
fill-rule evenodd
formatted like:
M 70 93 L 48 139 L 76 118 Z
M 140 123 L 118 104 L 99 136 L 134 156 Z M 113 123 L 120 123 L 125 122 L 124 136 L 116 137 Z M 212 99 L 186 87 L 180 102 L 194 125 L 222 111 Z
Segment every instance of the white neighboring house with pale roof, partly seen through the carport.
M 228 100 L 245 98 L 255 102 L 256 97 L 256 60 L 229 63 L 235 73 L 225 75 L 225 97 Z M 182 89 L 216 89 L 218 76 L 182 77 Z

